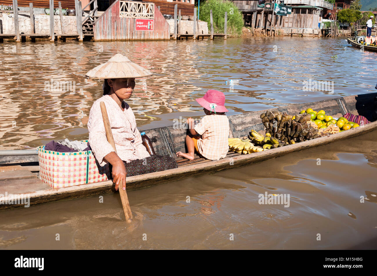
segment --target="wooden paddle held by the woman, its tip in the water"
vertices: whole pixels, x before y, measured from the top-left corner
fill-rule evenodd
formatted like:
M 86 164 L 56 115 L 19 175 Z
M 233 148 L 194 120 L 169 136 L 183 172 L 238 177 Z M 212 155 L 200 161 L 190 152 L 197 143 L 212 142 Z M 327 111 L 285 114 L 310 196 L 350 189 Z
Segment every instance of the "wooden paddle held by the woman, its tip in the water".
M 113 137 L 113 133 L 111 132 L 109 117 L 107 117 L 105 103 L 100 102 L 100 107 L 101 107 L 101 112 L 102 112 L 103 124 L 105 126 L 107 141 L 110 143 L 110 145 L 112 145 L 116 153 L 114 137 Z M 124 216 L 126 217 L 126 220 L 130 222 L 132 220 L 132 212 L 130 208 L 130 203 L 128 202 L 127 192 L 126 190 L 123 190 L 123 183 L 119 183 L 118 191 L 119 191 L 120 199 L 123 205 Z

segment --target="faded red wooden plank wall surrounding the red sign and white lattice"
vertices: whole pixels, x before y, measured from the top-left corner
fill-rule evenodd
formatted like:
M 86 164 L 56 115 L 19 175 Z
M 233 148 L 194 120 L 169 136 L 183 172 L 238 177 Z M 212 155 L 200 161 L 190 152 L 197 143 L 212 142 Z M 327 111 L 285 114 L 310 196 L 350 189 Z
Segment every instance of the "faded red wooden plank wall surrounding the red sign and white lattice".
M 120 17 L 117 0 L 93 24 L 95 41 L 170 40 L 170 27 L 164 16 L 154 7 L 153 31 L 136 31 L 135 18 Z

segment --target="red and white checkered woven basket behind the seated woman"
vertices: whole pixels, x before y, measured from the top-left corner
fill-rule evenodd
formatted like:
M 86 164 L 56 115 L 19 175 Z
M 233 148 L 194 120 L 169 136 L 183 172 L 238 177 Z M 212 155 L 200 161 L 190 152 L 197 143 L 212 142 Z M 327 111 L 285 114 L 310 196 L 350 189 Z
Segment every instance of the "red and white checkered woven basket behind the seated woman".
M 88 142 L 84 140 L 83 142 Z M 92 151 L 46 151 L 39 146 L 40 178 L 51 188 L 63 188 L 110 179 L 109 165 L 100 166 Z

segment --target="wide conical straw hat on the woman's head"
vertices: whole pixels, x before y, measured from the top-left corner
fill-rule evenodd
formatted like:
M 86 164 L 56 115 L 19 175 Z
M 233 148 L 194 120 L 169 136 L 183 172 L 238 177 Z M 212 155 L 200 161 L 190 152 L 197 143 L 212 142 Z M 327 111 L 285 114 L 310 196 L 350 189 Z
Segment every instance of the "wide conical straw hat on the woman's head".
M 153 74 L 143 67 L 131 62 L 121 53 L 94 67 L 86 73 L 86 77 L 91 79 L 118 79 L 118 78 L 143 78 Z

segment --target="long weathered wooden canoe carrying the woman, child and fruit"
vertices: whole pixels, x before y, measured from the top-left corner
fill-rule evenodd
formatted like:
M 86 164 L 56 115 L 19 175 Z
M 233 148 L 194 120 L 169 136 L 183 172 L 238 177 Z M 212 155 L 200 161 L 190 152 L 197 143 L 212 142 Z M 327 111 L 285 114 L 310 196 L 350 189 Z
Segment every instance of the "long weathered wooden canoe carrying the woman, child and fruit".
M 328 145 L 332 142 L 368 133 L 377 128 L 377 122 L 372 122 L 372 114 L 375 112 L 373 110 L 375 96 L 377 96 L 377 93 L 369 93 L 271 108 L 271 110 L 279 110 L 288 114 L 297 114 L 300 110 L 307 108 L 314 108 L 316 110 L 323 109 L 326 111 L 326 114 L 333 117 L 341 117 L 343 114 L 349 112 L 355 115 L 365 116 L 371 121 L 371 123 L 337 134 L 332 134 L 330 136 L 319 137 L 313 140 L 296 143 L 294 145 L 269 149 L 268 151 L 255 152 L 246 155 L 228 152 L 228 156 L 220 160 L 205 160 L 198 156 L 190 161 L 187 159 L 176 158 L 178 163 L 177 169 L 127 177 L 127 190 L 145 188 L 169 181 L 177 181 L 192 175 L 210 174 L 238 166 L 251 165 L 283 156 L 291 152 Z M 230 137 L 244 136 L 251 128 L 256 131 L 263 131 L 264 125 L 259 116 L 265 111 L 267 110 L 228 116 L 230 121 Z M 175 126 L 145 130 L 147 135 L 151 138 L 157 154 L 170 155 L 173 157 L 175 156 L 176 151 L 185 151 L 184 137 L 186 131 L 185 128 L 177 128 Z M 38 164 L 33 163 L 35 158 L 37 160 L 35 155 L 0 156 L 0 162 L 2 164 L 6 163 L 6 166 L 2 165 L 2 167 L 0 167 L 0 196 L 5 195 L 5 192 L 7 192 L 8 195 L 12 194 L 17 195 L 18 197 L 26 197 L 29 195 L 30 204 L 35 205 L 114 192 L 112 181 L 102 181 L 92 184 L 52 189 L 37 177 L 39 169 Z M 24 160 L 24 163 L 18 163 L 17 160 Z M 32 173 L 32 171 L 34 173 Z M 22 206 L 24 205 L 0 204 L 0 209 Z

